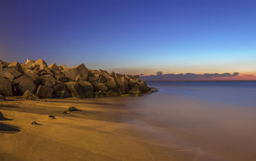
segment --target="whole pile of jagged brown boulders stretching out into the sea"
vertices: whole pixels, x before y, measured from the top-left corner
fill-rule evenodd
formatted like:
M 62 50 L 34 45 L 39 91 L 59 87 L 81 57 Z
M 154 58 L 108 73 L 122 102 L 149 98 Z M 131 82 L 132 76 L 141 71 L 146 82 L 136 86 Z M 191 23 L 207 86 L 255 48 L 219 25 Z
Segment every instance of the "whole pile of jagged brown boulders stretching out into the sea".
M 92 98 L 102 96 L 140 96 L 150 93 L 139 76 L 90 70 L 84 64 L 67 68 L 55 63 L 47 66 L 43 59 L 26 63 L 0 60 L 0 95 L 39 98 Z

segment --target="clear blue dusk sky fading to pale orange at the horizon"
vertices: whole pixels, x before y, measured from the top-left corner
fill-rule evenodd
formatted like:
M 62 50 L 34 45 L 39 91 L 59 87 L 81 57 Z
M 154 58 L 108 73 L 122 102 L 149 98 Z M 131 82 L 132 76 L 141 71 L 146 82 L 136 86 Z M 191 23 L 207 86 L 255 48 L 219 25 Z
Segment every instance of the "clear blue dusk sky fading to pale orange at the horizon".
M 246 0 L 1 0 L 0 59 L 256 80 L 255 17 Z

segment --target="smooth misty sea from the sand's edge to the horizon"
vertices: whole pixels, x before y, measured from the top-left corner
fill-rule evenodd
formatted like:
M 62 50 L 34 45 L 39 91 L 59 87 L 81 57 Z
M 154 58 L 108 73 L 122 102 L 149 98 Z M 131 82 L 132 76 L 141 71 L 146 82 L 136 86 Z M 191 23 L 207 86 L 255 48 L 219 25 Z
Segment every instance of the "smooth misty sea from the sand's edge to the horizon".
M 134 123 L 179 160 L 256 160 L 256 82 L 147 82 Z

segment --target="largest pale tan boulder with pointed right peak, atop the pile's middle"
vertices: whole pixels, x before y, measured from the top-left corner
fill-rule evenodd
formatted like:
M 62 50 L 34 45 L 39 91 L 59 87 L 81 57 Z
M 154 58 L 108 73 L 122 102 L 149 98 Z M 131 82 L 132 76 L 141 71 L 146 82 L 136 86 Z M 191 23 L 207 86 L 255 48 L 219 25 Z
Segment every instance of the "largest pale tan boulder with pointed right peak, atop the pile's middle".
M 84 64 L 74 66 L 72 68 L 66 68 L 61 71 L 64 73 L 65 77 L 68 78 L 68 81 L 87 81 L 88 78 L 88 69 Z

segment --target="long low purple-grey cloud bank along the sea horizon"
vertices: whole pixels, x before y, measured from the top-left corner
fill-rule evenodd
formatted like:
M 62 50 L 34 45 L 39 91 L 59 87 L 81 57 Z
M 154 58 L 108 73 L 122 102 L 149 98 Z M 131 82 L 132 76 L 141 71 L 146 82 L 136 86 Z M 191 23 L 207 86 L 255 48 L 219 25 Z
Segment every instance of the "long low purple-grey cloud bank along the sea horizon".
M 157 72 L 156 75 L 142 76 L 141 79 L 145 81 L 196 81 L 196 80 L 211 80 L 218 77 L 237 77 L 238 72 L 235 73 L 168 73 L 163 74 L 163 72 Z

